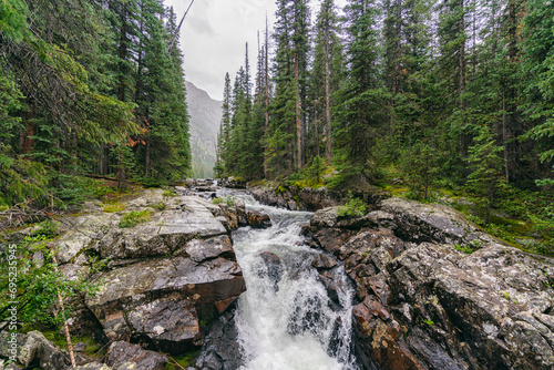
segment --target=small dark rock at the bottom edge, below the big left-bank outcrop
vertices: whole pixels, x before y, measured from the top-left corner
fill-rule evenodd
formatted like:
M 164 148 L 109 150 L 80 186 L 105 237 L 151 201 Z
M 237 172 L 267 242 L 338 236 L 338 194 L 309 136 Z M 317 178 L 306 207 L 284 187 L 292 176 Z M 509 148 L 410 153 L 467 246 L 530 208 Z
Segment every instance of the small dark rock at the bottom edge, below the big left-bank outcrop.
M 170 359 L 161 353 L 147 351 L 137 345 L 116 341 L 107 350 L 105 363 L 112 369 L 163 370 Z

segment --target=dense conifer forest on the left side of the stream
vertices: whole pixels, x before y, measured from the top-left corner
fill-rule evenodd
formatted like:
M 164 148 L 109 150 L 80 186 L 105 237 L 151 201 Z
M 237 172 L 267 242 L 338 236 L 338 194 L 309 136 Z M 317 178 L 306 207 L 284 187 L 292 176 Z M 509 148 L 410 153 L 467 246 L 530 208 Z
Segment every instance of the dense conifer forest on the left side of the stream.
M 158 0 L 0 1 L 0 207 L 191 175 L 182 59 Z

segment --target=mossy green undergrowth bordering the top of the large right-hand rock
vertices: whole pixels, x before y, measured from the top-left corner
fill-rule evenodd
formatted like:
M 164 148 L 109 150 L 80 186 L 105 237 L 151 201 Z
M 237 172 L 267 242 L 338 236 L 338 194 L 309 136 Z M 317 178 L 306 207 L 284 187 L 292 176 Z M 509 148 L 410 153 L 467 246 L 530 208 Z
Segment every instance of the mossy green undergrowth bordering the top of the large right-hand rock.
M 484 232 L 509 244 L 537 254 L 554 255 L 554 194 L 551 188 L 524 189 L 505 184 L 495 192 L 486 223 L 482 195 L 448 179 L 432 182 L 425 193 L 394 167 L 383 168 L 379 187 L 392 196 L 451 206 Z

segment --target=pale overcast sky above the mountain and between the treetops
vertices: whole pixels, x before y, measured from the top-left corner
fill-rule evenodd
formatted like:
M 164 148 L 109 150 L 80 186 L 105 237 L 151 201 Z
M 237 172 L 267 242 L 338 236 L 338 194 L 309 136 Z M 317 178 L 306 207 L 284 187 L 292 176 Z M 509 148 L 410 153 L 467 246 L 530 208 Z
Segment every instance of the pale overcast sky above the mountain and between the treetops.
M 319 8 L 319 2 L 312 0 L 311 8 Z M 179 21 L 191 0 L 165 0 L 164 3 L 173 6 Z M 346 0 L 336 3 L 342 6 Z M 255 73 L 257 31 L 263 40 L 267 13 L 271 32 L 276 9 L 276 0 L 195 0 L 181 28 L 186 80 L 207 91 L 213 99 L 222 100 L 225 72 L 229 72 L 233 82 L 244 65 L 246 42 Z

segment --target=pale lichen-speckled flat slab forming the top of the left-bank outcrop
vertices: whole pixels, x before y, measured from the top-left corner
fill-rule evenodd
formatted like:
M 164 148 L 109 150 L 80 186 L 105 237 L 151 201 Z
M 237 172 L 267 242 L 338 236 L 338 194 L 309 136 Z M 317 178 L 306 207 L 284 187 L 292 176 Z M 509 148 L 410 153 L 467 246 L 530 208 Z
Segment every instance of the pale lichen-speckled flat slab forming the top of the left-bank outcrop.
M 194 196 L 163 197 L 161 189 L 145 191 L 138 197 L 122 201 L 126 208 L 117 213 L 95 210 L 68 218 L 57 240 L 60 264 L 74 263 L 85 249 L 100 251 L 113 260 L 155 257 L 171 254 L 195 237 L 223 235 L 227 229 L 209 210 L 214 205 Z M 163 203 L 165 209 L 153 206 Z M 151 210 L 151 220 L 121 228 L 119 223 L 130 210 Z

